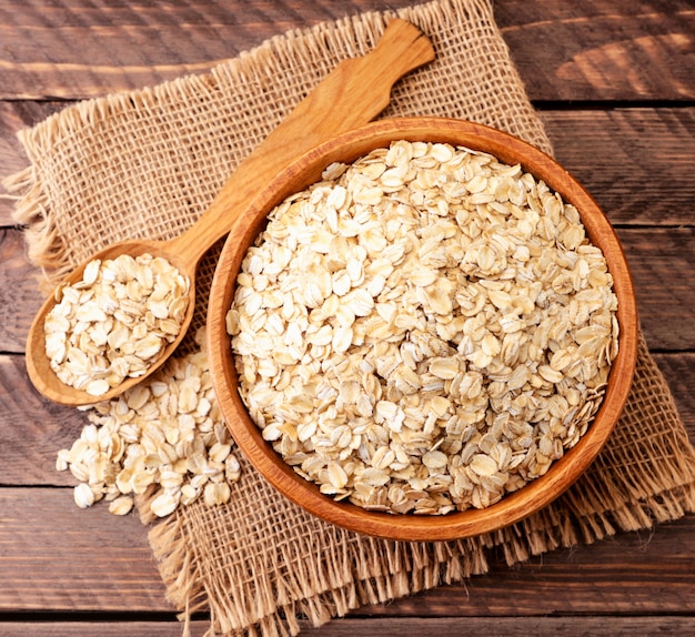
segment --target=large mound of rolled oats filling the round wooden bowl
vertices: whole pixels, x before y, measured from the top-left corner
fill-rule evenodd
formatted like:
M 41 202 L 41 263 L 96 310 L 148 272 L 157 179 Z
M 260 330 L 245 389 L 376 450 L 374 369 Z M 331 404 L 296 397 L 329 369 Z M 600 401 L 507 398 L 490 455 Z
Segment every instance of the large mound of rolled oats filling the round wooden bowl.
M 336 499 L 484 508 L 584 434 L 617 299 L 577 210 L 520 165 L 399 141 L 269 215 L 226 316 L 263 438 Z

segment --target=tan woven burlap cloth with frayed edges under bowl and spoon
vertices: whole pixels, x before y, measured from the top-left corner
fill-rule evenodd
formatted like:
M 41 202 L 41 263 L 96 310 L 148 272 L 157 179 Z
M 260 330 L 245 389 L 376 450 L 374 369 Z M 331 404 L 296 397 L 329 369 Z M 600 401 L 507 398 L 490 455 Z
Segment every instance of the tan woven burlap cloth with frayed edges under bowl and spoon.
M 392 14 L 286 33 L 209 74 L 87 101 L 22 131 L 30 166 L 6 185 L 19 196 L 33 263 L 56 281 L 113 241 L 179 233 L 328 71 L 374 46 Z M 551 152 L 488 1 L 437 0 L 397 14 L 432 39 L 437 58 L 394 88 L 384 117 L 475 120 Z M 201 265 L 208 283 L 214 255 Z M 209 610 L 214 634 L 276 635 L 295 634 L 301 617 L 320 625 L 482 574 L 491 550 L 514 564 L 693 510 L 695 453 L 642 340 L 634 388 L 605 451 L 565 495 L 515 526 L 440 544 L 364 537 L 300 510 L 244 463 L 229 505 L 180 508 L 153 524 L 150 540 L 184 616 Z

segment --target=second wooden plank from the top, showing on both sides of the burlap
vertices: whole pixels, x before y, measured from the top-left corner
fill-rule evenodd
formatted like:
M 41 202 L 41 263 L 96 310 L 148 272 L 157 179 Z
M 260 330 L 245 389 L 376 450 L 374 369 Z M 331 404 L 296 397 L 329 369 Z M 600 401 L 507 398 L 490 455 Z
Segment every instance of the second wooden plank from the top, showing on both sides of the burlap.
M 17 131 L 61 102 L 0 102 L 0 175 L 28 165 Z M 592 193 L 613 223 L 693 224 L 695 108 L 542 111 L 557 160 Z M 0 225 L 12 223 L 0 199 Z

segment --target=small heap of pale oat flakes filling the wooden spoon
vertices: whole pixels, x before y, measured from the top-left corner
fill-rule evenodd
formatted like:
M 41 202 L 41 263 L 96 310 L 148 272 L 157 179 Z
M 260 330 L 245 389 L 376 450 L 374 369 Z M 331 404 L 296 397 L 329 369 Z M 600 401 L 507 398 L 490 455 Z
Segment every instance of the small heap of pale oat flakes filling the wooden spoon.
M 60 286 L 44 321 L 46 353 L 66 385 L 103 396 L 143 375 L 181 332 L 190 281 L 160 256 L 90 261 Z

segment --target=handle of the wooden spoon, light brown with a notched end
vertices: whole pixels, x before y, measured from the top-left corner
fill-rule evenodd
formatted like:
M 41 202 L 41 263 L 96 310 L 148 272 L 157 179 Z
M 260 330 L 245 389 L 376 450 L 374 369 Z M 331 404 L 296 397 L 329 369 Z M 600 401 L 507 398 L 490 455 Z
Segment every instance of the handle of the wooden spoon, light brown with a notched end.
M 389 104 L 394 82 L 433 59 L 422 31 L 393 19 L 370 53 L 343 60 L 239 164 L 207 212 L 170 242 L 172 247 L 194 266 L 280 170 L 316 144 L 371 121 Z

